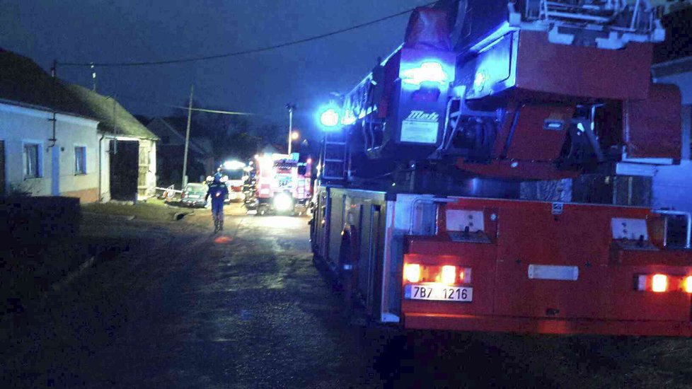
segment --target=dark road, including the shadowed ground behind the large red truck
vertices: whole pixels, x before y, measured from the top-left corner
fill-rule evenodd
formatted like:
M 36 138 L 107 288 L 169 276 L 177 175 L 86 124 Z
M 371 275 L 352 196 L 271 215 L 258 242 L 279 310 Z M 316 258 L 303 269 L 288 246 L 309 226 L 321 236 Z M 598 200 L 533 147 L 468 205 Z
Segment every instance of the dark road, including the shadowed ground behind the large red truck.
M 307 222 L 235 205 L 216 235 L 204 209 L 177 222 L 85 217 L 83 234 L 124 248 L 4 317 L 3 387 L 682 388 L 692 377 L 687 340 L 348 325 Z

